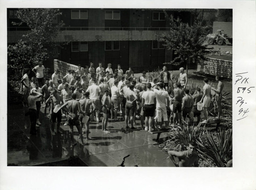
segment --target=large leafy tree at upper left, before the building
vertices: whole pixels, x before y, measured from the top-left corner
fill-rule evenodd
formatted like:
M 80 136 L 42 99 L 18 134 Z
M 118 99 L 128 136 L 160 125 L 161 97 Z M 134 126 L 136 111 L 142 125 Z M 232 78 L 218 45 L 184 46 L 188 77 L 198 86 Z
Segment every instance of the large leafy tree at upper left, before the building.
M 18 9 L 20 22 L 13 25 L 25 23 L 30 30 L 17 43 L 8 46 L 9 75 L 18 78 L 22 68 L 32 68 L 35 61 L 45 61 L 52 55 L 52 49 L 60 45 L 54 38 L 64 25 L 63 21 L 53 23 L 58 15 L 61 15 L 59 9 Z

